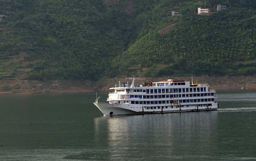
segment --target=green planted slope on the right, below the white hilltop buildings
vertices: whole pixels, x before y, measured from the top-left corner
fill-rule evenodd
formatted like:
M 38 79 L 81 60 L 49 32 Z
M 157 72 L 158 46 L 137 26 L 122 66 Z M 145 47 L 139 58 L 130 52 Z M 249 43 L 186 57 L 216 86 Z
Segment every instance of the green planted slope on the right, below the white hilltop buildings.
M 117 57 L 113 64 L 126 74 L 130 66 L 141 64 L 144 67 L 149 62 L 158 61 L 164 61 L 169 67 L 155 71 L 155 76 L 256 74 L 252 70 L 255 63 L 234 67 L 237 61 L 256 60 L 254 15 L 255 11 L 234 8 L 211 16 L 183 16 L 166 34 L 149 31 Z

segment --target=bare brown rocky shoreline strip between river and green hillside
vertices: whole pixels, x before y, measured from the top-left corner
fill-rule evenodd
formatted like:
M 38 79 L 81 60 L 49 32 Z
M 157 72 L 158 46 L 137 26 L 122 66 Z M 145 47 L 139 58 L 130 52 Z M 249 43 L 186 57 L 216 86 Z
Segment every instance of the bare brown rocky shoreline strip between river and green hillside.
M 143 82 L 158 80 L 186 80 L 191 77 L 137 77 L 136 85 Z M 85 93 L 95 91 L 108 91 L 118 82 L 131 82 L 133 78 L 102 78 L 101 80 L 0 80 L 0 94 L 34 94 L 34 93 Z M 194 82 L 209 83 L 211 89 L 256 89 L 256 76 L 200 76 L 193 77 Z

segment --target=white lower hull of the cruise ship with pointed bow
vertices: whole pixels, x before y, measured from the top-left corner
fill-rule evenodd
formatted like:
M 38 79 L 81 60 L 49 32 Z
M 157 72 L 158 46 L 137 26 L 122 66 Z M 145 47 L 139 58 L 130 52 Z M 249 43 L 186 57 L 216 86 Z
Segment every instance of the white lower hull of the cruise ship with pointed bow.
M 113 115 L 142 115 L 142 114 L 163 114 L 173 112 L 196 112 L 196 111 L 212 111 L 218 109 L 218 103 L 212 103 L 212 106 L 198 106 L 188 105 L 188 107 L 181 107 L 180 105 L 172 108 L 156 108 L 145 109 L 142 105 L 132 106 L 130 104 L 109 104 L 109 103 L 93 103 L 105 116 Z

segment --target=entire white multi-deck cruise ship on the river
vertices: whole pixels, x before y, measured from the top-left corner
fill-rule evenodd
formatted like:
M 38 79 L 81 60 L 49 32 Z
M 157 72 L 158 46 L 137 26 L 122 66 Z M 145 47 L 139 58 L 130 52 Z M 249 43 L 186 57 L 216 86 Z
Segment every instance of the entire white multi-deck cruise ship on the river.
M 146 82 L 138 87 L 120 83 L 110 88 L 107 102 L 93 103 L 104 116 L 163 114 L 172 112 L 210 111 L 218 109 L 216 90 L 209 84 L 193 81 L 165 80 Z

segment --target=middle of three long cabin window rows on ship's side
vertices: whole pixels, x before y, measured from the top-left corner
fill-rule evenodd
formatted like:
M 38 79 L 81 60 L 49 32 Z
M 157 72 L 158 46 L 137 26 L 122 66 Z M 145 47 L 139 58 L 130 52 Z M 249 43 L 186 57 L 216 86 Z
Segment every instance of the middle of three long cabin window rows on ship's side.
M 187 97 L 207 97 L 214 96 L 213 93 L 193 93 L 193 94 L 176 94 L 176 95 L 130 95 L 130 98 L 187 98 Z

